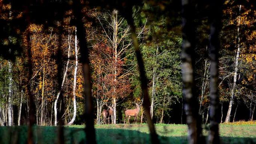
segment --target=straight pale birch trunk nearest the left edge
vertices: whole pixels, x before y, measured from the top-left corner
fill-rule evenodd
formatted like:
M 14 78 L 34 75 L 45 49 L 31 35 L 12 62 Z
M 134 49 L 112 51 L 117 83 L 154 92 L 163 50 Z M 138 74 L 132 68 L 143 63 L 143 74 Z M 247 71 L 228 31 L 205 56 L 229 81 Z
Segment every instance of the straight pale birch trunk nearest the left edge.
M 8 92 L 8 126 L 12 126 L 12 62 L 8 60 L 8 73 L 9 73 L 9 92 Z

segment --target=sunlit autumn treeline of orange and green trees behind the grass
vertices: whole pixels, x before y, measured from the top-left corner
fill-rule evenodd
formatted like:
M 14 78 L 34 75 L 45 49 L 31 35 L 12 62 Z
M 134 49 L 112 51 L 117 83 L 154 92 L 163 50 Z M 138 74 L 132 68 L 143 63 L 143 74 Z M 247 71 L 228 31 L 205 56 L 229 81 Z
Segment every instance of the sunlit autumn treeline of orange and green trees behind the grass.
M 150 114 L 155 123 L 183 123 L 180 16 L 165 13 L 172 3 L 144 3 L 134 7 L 136 37 L 140 42 L 150 96 Z M 22 11 L 12 4 L 1 6 L 2 25 L 0 62 L 0 125 L 27 125 L 29 96 L 34 99 L 36 124 L 65 125 L 83 123 L 83 71 L 77 28 L 72 25 L 74 12 L 65 10 L 64 17 L 51 19 L 52 24 L 31 22 L 22 30 L 17 27 Z M 203 9 L 203 10 L 202 10 Z M 210 109 L 209 21 L 203 15 L 207 7 L 198 8 L 196 18 L 195 88 L 198 93 L 199 115 L 208 122 Z M 200 11 L 201 10 L 201 11 Z M 177 13 L 179 13 L 178 11 Z M 112 123 L 123 123 L 124 111 L 143 101 L 140 77 L 131 40 L 131 27 L 118 10 L 83 7 L 83 25 L 89 47 L 95 123 L 102 124 L 101 112 L 113 108 Z M 219 95 L 221 119 L 232 122 L 238 105 L 246 105 L 246 120 L 253 120 L 256 105 L 256 11 L 249 2 L 226 1 L 220 33 Z M 27 37 L 27 35 L 30 37 Z M 6 34 L 6 35 L 5 35 Z M 8 36 L 8 37 L 6 37 Z M 31 53 L 27 45 L 30 43 Z M 60 55 L 61 60 L 57 59 Z M 29 79 L 31 55 L 32 77 Z M 62 62 L 61 80 L 59 62 Z M 60 85 L 61 81 L 61 85 Z M 61 90 L 59 89 L 61 88 Z M 59 98 L 63 95 L 63 98 Z M 242 108 L 246 108 L 242 107 Z M 61 112 L 63 111 L 63 113 Z M 175 115 L 176 114 L 176 115 Z M 176 119 L 176 120 L 174 120 Z M 145 122 L 140 109 L 140 122 Z

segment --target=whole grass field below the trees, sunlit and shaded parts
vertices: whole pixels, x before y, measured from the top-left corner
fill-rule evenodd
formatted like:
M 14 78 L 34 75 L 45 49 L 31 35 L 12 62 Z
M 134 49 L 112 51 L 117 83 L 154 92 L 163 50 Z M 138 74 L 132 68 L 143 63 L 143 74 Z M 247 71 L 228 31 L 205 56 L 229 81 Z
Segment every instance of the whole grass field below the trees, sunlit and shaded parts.
M 82 125 L 65 127 L 66 144 L 78 144 L 84 141 Z M 98 144 L 150 144 L 146 124 L 95 125 Z M 203 133 L 207 136 L 207 126 Z M 186 144 L 187 126 L 174 124 L 156 124 L 156 130 L 162 144 Z M 34 127 L 36 144 L 57 143 L 58 131 L 54 126 Z M 223 144 L 256 144 L 256 125 L 220 125 Z M 25 144 L 27 126 L 0 127 L 0 144 Z

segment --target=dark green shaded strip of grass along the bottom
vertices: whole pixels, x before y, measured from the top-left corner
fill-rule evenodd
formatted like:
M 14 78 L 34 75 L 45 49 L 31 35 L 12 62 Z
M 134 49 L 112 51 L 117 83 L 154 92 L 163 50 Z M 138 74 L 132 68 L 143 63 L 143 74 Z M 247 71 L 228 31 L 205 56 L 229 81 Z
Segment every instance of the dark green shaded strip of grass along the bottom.
M 0 144 L 26 144 L 27 126 L 0 127 Z M 57 143 L 57 127 L 35 126 L 35 144 Z M 85 140 L 81 128 L 64 128 L 65 144 L 79 144 Z M 97 144 L 150 144 L 149 134 L 127 129 L 96 129 Z M 159 136 L 161 144 L 186 144 L 186 137 Z M 222 144 L 256 144 L 256 138 L 222 137 Z

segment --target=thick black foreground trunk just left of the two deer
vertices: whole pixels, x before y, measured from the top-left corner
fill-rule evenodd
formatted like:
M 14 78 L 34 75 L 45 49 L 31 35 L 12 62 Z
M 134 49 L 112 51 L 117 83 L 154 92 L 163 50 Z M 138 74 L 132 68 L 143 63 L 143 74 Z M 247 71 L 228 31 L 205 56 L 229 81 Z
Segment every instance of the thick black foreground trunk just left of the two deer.
M 77 39 L 79 40 L 79 50 L 80 50 L 80 62 L 82 63 L 83 68 L 83 78 L 84 78 L 84 85 L 83 85 L 83 96 L 85 99 L 85 122 L 86 122 L 86 143 L 87 144 L 96 144 L 96 137 L 95 137 L 95 129 L 94 129 L 94 118 L 93 118 L 93 104 L 92 104 L 92 93 L 91 93 L 91 74 L 90 74 L 90 67 L 89 67 L 89 51 L 87 47 L 87 40 L 86 40 L 86 31 L 83 27 L 82 21 L 82 6 L 80 0 L 74 0 L 73 5 L 74 15 L 76 18 L 76 28 L 77 28 Z

